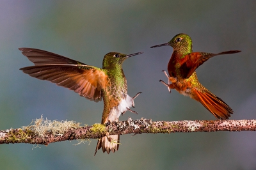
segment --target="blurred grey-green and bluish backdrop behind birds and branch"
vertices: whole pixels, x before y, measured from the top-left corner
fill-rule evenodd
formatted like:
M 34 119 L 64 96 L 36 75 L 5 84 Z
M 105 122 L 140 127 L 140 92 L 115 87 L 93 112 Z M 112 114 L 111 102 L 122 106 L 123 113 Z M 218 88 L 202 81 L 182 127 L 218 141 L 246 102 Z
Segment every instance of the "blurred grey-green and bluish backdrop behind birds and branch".
M 128 93 L 139 115 L 120 120 L 214 120 L 200 103 L 172 91 L 166 77 L 172 47 L 150 49 L 178 33 L 194 51 L 242 50 L 197 69 L 200 82 L 227 102 L 231 119 L 256 119 L 256 1 L 1 1 L 0 129 L 19 128 L 41 115 L 48 120 L 99 123 L 103 103 L 29 77 L 32 63 L 19 47 L 48 50 L 93 66 L 111 51 L 144 54 L 127 59 Z M 1 169 L 256 169 L 255 132 L 122 135 L 116 153 L 93 157 L 97 141 L 2 144 Z

